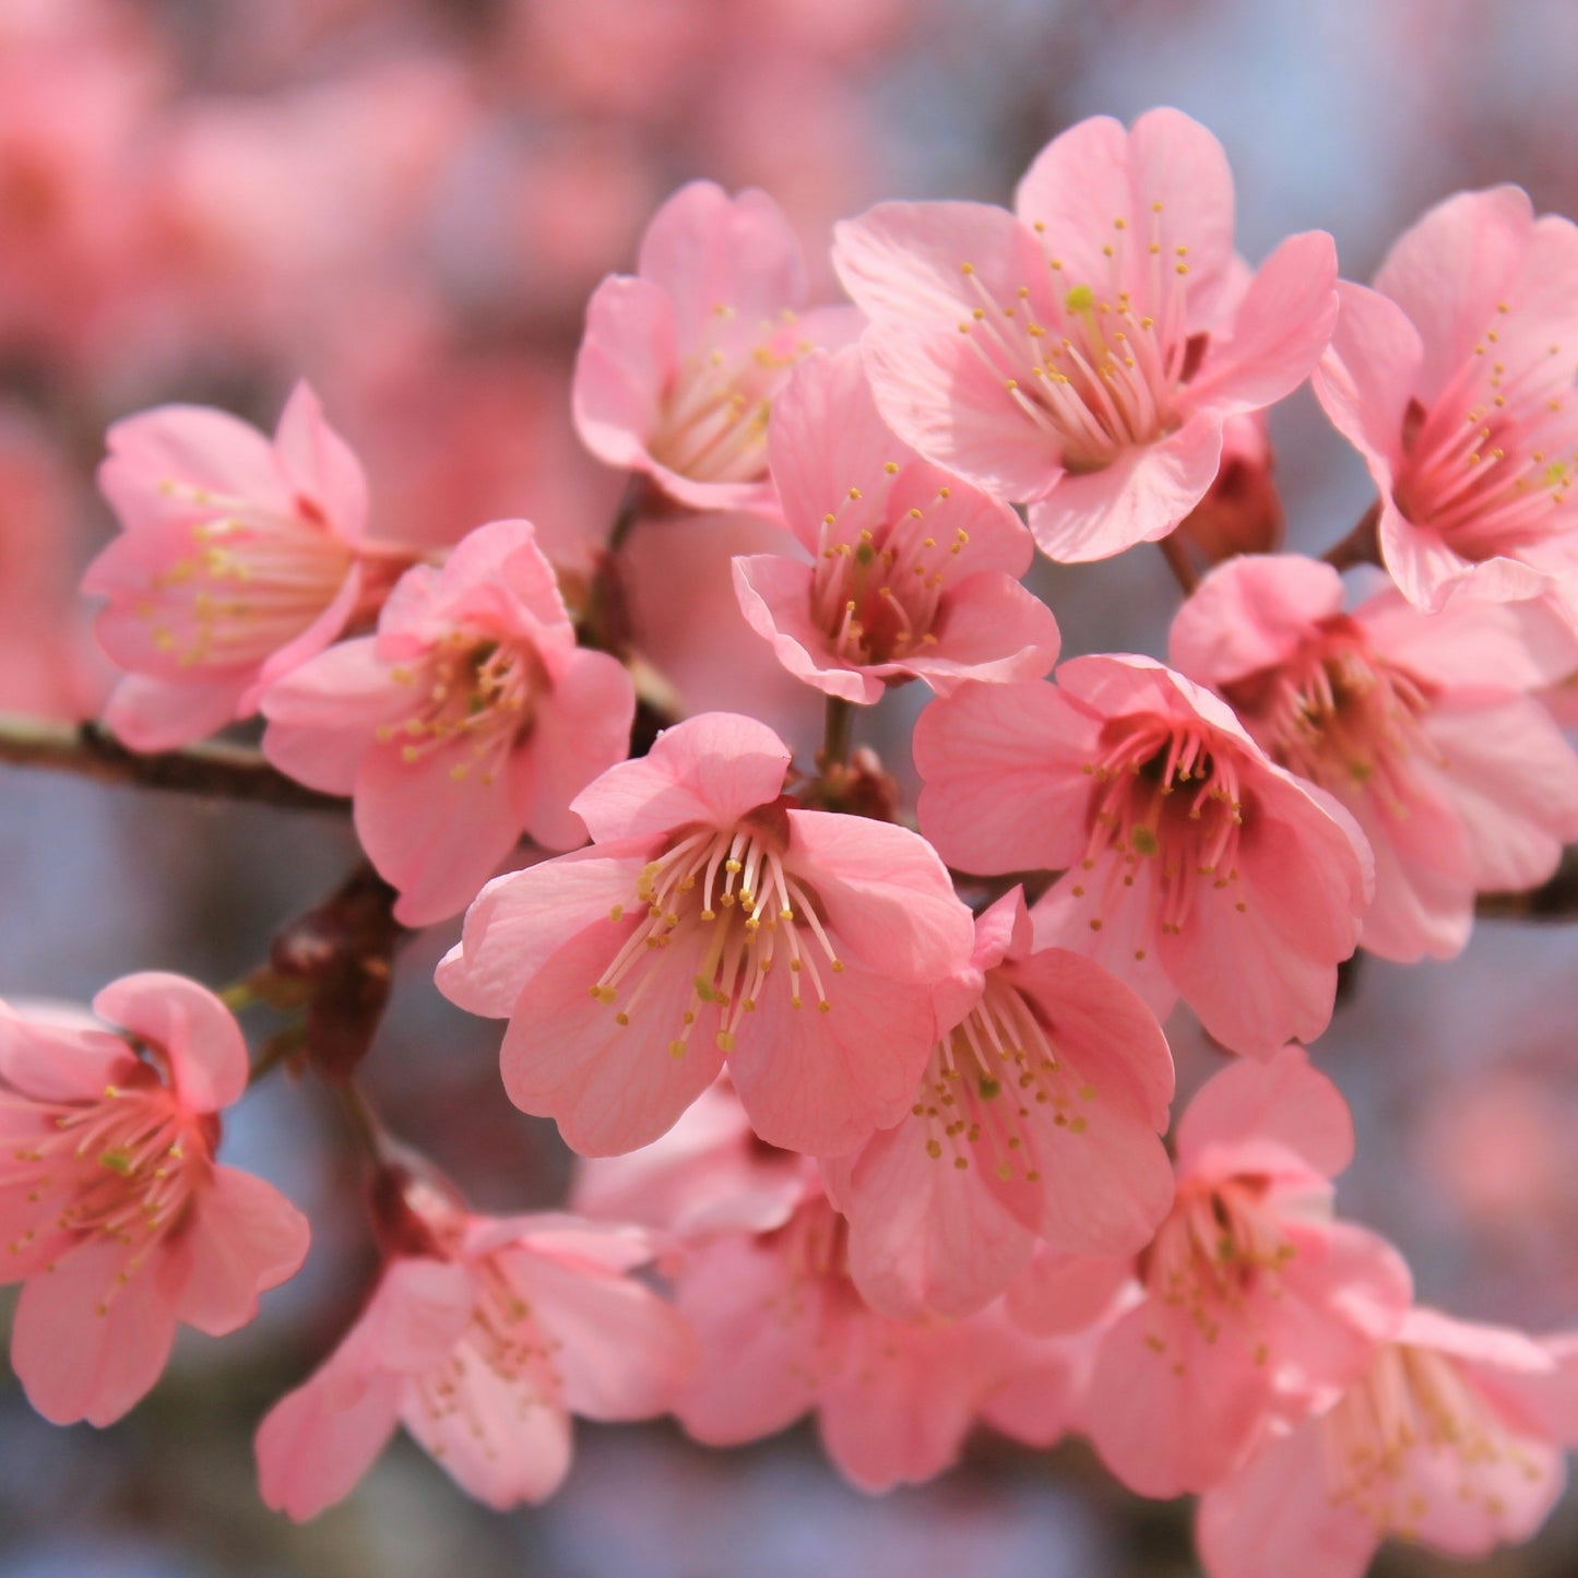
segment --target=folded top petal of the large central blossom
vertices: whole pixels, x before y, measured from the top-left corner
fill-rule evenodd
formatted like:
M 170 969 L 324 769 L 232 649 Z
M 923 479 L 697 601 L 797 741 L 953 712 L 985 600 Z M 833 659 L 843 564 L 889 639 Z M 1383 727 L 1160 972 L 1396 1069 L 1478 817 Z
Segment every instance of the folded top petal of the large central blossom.
M 709 712 L 664 729 L 644 757 L 611 767 L 573 810 L 598 843 L 661 838 L 688 822 L 729 827 L 778 798 L 789 759 L 764 723 Z

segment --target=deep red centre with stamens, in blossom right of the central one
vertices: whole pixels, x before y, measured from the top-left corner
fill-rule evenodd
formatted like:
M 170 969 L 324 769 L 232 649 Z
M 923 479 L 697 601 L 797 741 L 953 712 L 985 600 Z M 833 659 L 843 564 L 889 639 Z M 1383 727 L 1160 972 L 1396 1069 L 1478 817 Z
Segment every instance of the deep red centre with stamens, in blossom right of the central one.
M 1084 767 L 1095 789 L 1079 863 L 1086 877 L 1073 896 L 1084 898 L 1087 884 L 1097 888 L 1090 929 L 1100 931 L 1100 911 L 1128 903 L 1125 890 L 1138 885 L 1147 934 L 1176 936 L 1202 882 L 1226 888 L 1239 879 L 1243 805 L 1234 754 L 1213 731 L 1150 715 L 1108 720 L 1098 751 Z

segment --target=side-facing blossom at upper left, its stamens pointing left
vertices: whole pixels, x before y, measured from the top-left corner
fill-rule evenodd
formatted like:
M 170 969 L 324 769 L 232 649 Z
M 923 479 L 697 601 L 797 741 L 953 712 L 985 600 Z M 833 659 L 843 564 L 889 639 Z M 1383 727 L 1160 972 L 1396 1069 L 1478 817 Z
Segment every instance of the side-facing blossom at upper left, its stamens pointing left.
M 159 751 L 249 716 L 268 685 L 377 608 L 410 554 L 365 543 L 357 458 L 298 383 L 270 442 L 221 410 L 161 406 L 109 429 L 99 488 L 122 535 L 82 590 L 123 669 L 106 721 Z

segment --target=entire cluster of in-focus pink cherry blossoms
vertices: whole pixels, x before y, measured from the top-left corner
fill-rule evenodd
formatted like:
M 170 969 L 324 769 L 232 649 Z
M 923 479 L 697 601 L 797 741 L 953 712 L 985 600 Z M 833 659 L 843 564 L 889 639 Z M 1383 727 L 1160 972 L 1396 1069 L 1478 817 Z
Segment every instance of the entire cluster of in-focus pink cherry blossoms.
M 573 418 L 628 489 L 590 573 L 524 519 L 383 537 L 305 383 L 273 437 L 110 428 L 107 727 L 260 718 L 350 800 L 393 922 L 464 912 L 437 988 L 508 1021 L 508 1098 L 584 1158 L 563 1212 L 481 1215 L 368 1125 L 380 1270 L 262 1420 L 264 1499 L 316 1515 L 396 1423 L 508 1507 L 573 1414 L 718 1445 L 814 1414 L 871 1491 L 977 1425 L 1083 1434 L 1201 1498 L 1210 1578 L 1528 1537 L 1578 1335 L 1420 1305 L 1337 1215 L 1316 1043 L 1356 950 L 1452 958 L 1578 839 L 1578 229 L 1498 188 L 1371 287 L 1319 232 L 1251 268 L 1223 150 L 1158 109 L 1059 136 L 1011 210 L 847 219 L 832 262 L 847 301 L 767 194 L 697 181 L 598 286 Z M 1305 383 L 1378 492 L 1326 559 L 1278 548 L 1264 412 Z M 631 532 L 740 511 L 775 551 L 691 617 L 816 694 L 819 751 L 688 710 L 622 617 Z M 1147 543 L 1166 661 L 1062 658 L 1037 552 Z M 909 808 L 851 742 L 915 680 Z M 1225 1059 L 1182 1111 L 1179 1005 Z M 103 1425 L 308 1228 L 216 1160 L 226 1004 L 136 975 L 95 1015 L 0 1010 L 0 1223 L 30 1398 Z

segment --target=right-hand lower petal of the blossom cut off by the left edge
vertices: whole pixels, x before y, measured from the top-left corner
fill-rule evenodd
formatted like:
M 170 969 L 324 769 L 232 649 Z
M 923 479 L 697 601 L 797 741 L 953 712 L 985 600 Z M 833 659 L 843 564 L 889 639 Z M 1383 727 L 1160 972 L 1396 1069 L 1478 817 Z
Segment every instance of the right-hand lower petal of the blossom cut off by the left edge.
M 215 1168 L 181 1234 L 189 1270 L 177 1318 L 210 1337 L 245 1326 L 257 1314 L 257 1296 L 301 1269 L 309 1239 L 306 1217 L 273 1184 Z

